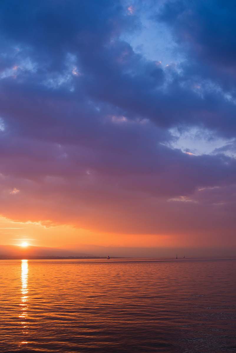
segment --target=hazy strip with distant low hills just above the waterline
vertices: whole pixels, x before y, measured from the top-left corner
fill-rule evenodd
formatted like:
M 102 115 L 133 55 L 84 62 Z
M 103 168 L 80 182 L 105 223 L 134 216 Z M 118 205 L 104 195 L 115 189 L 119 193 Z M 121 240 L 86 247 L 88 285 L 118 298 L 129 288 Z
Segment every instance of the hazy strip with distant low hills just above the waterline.
M 82 244 L 69 248 L 0 245 L 0 258 L 41 258 L 41 257 L 114 257 L 124 258 L 235 258 L 236 249 L 222 251 L 221 248 L 158 248 L 158 247 L 112 247 Z

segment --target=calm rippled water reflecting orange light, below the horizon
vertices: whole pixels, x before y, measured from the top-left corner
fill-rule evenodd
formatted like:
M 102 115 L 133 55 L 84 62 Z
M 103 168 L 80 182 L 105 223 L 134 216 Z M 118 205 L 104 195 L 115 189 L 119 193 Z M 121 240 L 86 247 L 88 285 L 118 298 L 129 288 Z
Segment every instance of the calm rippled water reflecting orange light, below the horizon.
M 236 260 L 0 261 L 1 352 L 236 352 Z

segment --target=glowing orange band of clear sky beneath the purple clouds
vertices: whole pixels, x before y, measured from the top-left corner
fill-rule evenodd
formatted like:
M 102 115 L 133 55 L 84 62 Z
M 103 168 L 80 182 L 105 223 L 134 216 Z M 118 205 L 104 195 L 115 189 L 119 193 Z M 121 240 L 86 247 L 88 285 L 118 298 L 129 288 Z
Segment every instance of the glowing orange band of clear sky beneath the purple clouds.
M 20 245 L 27 241 L 29 245 L 58 247 L 65 249 L 79 248 L 79 245 L 105 247 L 140 247 L 140 248 L 175 248 L 209 246 L 209 237 L 201 234 L 188 237 L 184 234 L 123 234 L 93 232 L 71 225 L 55 225 L 47 222 L 20 222 L 0 218 L 0 245 Z M 204 241 L 205 239 L 205 241 Z M 215 242 L 215 246 L 222 243 Z M 224 244 L 227 246 L 227 243 Z

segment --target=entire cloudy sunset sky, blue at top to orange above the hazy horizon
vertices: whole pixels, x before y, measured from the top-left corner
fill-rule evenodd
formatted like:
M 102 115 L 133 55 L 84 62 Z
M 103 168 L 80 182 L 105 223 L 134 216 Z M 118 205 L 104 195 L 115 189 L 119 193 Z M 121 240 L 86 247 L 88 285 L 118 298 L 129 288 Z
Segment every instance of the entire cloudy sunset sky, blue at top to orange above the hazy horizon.
M 235 30 L 235 1 L 2 1 L 0 244 L 234 253 Z

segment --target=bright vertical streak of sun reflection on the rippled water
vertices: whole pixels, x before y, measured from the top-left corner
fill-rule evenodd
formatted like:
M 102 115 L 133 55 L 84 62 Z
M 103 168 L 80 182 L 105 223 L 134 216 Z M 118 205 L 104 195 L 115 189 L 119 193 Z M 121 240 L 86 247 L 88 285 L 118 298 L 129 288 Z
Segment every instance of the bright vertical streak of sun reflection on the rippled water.
M 29 301 L 29 297 L 28 297 L 28 260 L 22 260 L 21 261 L 21 300 L 20 300 L 20 315 L 19 318 L 22 319 L 21 321 L 21 325 L 22 325 L 22 334 L 23 334 L 23 341 L 20 342 L 20 344 L 26 344 L 28 343 L 25 340 L 25 334 L 28 334 L 28 322 L 26 321 L 28 318 L 28 301 Z

